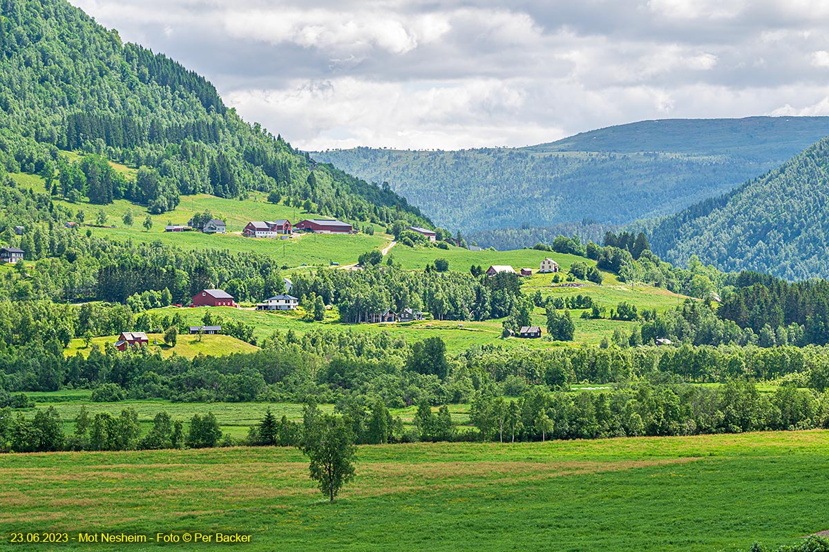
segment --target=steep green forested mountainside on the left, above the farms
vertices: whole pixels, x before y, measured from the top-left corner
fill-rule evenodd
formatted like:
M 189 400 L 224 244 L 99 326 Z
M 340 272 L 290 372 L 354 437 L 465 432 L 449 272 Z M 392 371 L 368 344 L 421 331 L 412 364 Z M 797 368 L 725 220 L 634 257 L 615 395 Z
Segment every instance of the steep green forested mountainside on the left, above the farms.
M 132 199 L 154 213 L 174 208 L 180 194 L 263 190 L 310 199 L 317 212 L 342 218 L 419 219 L 394 192 L 316 165 L 242 121 L 200 75 L 122 43 L 65 0 L 0 5 L 0 171 L 51 182 L 58 170 L 53 194 L 98 204 Z M 67 166 L 60 150 L 145 168 L 134 181 L 117 179 Z

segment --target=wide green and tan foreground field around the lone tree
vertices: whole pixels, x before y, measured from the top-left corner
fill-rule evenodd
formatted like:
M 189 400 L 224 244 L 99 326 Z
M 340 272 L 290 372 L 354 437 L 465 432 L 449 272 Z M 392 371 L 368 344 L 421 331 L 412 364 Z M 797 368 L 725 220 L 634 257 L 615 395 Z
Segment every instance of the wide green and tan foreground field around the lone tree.
M 829 432 L 362 446 L 329 504 L 296 449 L 9 454 L 13 532 L 239 532 L 234 550 L 747 550 L 829 527 Z M 213 545 L 215 546 L 215 545 Z M 213 546 L 175 545 L 175 550 Z

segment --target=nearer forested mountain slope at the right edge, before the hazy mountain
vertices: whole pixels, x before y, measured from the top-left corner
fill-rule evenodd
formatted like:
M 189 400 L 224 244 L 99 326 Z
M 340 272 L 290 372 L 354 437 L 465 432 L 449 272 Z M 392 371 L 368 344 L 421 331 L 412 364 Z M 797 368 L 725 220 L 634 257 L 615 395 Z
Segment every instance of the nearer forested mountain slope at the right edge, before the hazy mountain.
M 829 138 L 767 175 L 650 228 L 654 252 L 787 280 L 829 276 Z

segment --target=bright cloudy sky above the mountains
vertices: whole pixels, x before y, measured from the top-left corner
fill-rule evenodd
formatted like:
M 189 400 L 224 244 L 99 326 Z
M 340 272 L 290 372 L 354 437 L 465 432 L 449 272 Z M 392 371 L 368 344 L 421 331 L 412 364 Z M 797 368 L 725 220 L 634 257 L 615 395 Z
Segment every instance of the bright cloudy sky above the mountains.
M 70 0 L 308 150 L 829 114 L 825 0 Z

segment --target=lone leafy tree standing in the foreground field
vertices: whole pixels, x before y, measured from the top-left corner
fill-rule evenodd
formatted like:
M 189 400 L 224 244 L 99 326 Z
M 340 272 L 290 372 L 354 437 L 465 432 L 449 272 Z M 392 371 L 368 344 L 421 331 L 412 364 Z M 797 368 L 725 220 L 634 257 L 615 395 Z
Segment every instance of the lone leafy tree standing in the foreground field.
M 299 448 L 311 460 L 311 478 L 322 494 L 334 502 L 342 486 L 354 477 L 354 434 L 341 416 L 319 415 L 313 425 Z

